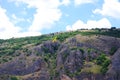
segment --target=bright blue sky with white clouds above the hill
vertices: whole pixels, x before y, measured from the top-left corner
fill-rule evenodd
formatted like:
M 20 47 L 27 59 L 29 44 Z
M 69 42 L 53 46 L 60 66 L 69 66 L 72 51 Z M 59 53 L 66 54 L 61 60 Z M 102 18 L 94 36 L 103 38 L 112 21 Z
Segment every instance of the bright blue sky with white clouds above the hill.
M 120 28 L 120 0 L 0 0 L 0 39 Z

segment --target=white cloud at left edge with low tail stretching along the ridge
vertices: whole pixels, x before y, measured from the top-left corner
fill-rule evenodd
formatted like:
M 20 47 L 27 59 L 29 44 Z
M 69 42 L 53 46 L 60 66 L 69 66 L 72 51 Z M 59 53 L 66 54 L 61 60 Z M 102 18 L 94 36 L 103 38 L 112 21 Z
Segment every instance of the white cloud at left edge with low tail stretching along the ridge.
M 17 19 L 15 15 L 12 16 Z M 40 32 L 21 32 L 21 28 L 10 22 L 6 10 L 0 6 L 0 39 L 40 35 Z

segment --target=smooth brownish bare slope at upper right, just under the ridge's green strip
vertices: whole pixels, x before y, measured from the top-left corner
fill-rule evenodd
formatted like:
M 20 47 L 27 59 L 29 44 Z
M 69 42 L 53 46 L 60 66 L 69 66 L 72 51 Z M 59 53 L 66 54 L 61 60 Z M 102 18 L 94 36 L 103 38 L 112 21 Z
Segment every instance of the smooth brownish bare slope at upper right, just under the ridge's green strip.
M 120 47 L 120 38 L 109 36 L 76 36 L 77 41 L 82 42 L 87 47 L 95 48 L 109 54 L 112 47 Z

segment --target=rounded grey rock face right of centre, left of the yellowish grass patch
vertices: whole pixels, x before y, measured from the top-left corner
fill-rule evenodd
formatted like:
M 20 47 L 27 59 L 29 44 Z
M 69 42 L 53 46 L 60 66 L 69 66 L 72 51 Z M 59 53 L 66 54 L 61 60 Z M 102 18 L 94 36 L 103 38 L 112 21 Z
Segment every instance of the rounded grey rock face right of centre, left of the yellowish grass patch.
M 72 51 L 67 57 L 65 63 L 65 69 L 70 73 L 75 73 L 83 66 L 83 56 L 80 51 Z

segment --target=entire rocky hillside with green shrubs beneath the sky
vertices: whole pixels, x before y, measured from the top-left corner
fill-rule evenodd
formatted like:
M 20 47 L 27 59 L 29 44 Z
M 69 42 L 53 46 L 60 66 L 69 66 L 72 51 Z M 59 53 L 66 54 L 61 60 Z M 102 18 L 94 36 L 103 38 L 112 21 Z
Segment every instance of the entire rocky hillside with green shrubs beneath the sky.
M 120 80 L 120 30 L 1 39 L 0 80 Z

